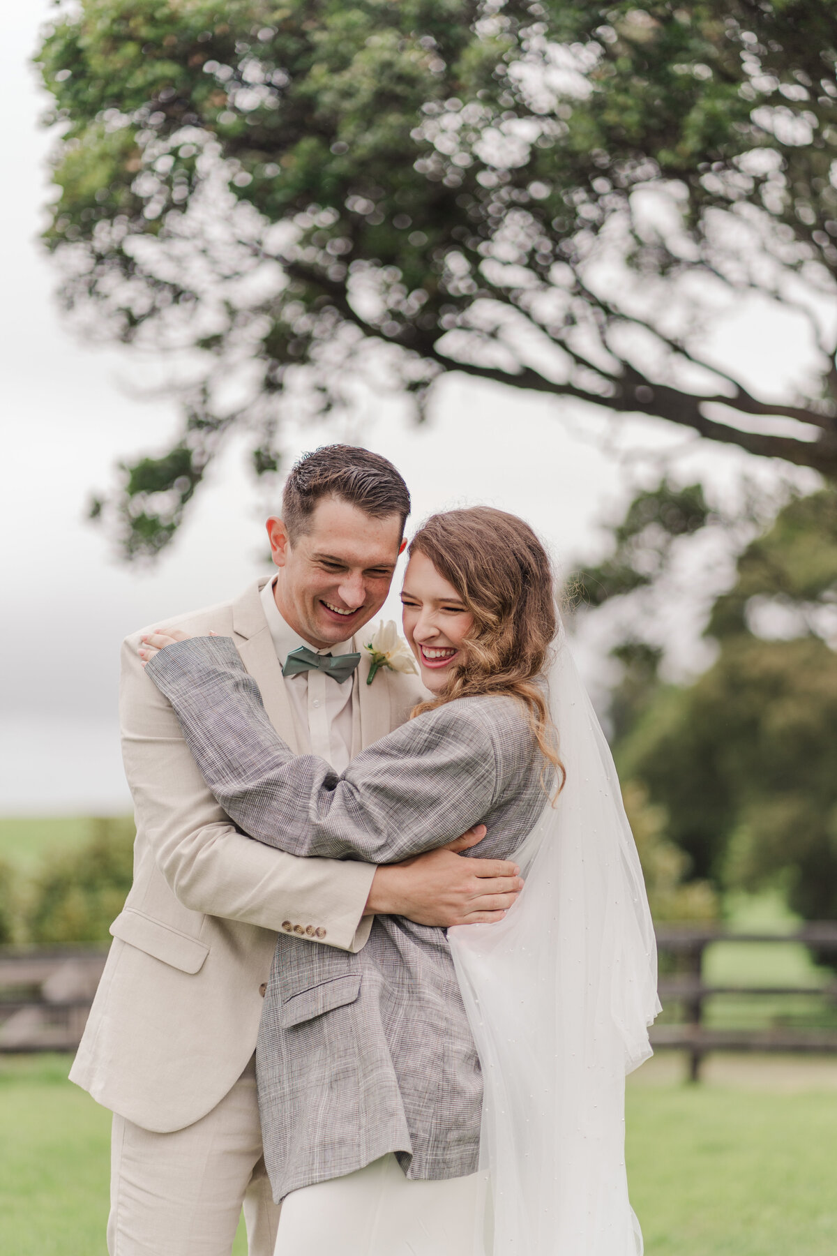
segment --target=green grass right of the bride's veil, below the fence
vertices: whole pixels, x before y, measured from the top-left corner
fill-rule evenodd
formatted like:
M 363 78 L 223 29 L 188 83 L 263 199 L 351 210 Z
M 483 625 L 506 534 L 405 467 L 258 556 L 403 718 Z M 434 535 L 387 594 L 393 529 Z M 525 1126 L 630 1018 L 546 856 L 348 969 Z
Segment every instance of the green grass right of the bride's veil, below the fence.
M 837 1093 L 629 1088 L 648 1256 L 833 1256 Z

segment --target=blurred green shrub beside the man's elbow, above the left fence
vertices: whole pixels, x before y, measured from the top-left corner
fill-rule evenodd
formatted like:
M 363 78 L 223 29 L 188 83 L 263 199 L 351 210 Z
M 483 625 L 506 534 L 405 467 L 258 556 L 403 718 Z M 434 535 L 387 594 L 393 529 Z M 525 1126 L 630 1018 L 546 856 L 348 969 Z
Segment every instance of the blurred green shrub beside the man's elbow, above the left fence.
M 107 942 L 133 877 L 133 820 L 90 821 L 90 840 L 45 860 L 31 885 L 29 941 Z

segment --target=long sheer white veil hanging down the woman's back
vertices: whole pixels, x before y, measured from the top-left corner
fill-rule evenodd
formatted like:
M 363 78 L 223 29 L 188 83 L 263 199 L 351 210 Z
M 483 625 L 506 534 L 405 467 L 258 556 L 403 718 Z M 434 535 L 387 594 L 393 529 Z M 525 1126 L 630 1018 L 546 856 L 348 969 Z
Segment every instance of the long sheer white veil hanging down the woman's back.
M 556 638 L 550 710 L 567 779 L 514 855 L 499 924 L 449 931 L 483 1068 L 493 1256 L 637 1256 L 625 1074 L 651 1054 L 656 946 L 614 760 Z

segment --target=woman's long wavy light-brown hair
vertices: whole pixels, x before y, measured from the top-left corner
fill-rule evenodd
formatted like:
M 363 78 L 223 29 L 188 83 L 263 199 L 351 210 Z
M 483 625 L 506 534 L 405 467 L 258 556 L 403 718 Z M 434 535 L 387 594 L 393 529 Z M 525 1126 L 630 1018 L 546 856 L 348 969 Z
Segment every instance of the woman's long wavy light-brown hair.
M 517 515 L 471 506 L 430 515 L 409 553 L 424 554 L 473 615 L 463 662 L 453 668 L 444 692 L 422 702 L 413 715 L 454 698 L 512 695 L 526 707 L 561 790 L 566 772 L 557 732 L 543 687 L 536 682 L 557 632 L 555 579 L 543 545 Z

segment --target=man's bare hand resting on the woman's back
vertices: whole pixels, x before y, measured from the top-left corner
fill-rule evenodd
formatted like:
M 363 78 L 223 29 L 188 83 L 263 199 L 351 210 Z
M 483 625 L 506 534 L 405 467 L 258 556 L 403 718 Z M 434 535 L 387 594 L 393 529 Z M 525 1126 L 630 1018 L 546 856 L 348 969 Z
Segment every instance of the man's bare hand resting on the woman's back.
M 456 852 L 486 836 L 477 824 L 440 850 L 428 850 L 375 872 L 364 916 L 405 916 L 417 924 L 487 924 L 502 921 L 523 888 L 506 859 L 462 859 Z

